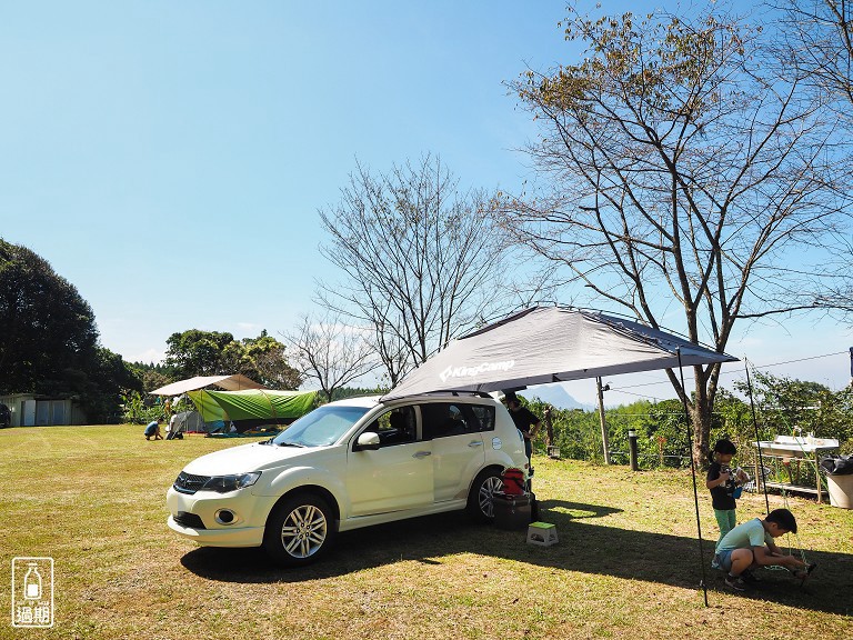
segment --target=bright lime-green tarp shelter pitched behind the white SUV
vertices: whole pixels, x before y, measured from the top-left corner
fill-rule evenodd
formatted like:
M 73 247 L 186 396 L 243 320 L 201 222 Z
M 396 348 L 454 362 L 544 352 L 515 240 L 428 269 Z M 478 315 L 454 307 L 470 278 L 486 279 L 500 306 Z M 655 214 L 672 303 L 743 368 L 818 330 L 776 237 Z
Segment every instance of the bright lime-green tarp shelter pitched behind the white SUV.
M 195 408 L 205 422 L 232 422 L 239 433 L 265 424 L 290 424 L 314 406 L 317 391 L 190 391 Z

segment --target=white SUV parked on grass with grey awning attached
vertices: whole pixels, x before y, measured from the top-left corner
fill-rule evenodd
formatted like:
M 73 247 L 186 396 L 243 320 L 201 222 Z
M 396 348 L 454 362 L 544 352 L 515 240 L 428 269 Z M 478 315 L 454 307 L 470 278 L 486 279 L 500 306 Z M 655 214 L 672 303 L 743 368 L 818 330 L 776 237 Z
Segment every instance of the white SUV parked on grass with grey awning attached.
M 490 521 L 508 467 L 526 470 L 524 443 L 492 398 L 353 398 L 190 462 L 167 494 L 169 527 L 307 564 L 338 531 L 461 509 Z

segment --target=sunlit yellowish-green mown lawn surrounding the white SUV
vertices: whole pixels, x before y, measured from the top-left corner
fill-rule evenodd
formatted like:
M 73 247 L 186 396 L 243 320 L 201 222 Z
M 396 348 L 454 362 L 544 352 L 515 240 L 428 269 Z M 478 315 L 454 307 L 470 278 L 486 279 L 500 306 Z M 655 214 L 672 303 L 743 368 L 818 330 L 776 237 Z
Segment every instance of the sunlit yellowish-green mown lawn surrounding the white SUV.
M 141 427 L 0 431 L 0 638 L 846 638 L 853 511 L 789 498 L 819 569 L 762 571 L 747 594 L 706 570 L 690 472 L 632 473 L 535 458 L 541 519 L 560 543 L 443 514 L 341 534 L 324 561 L 273 567 L 258 550 L 200 549 L 165 526 L 189 460 L 244 440 L 145 441 Z M 716 523 L 700 482 L 710 564 Z M 771 509 L 783 499 L 771 496 Z M 739 521 L 761 516 L 745 496 Z M 52 557 L 56 624 L 11 627 L 13 557 Z M 3 573 L 6 577 L 3 578 Z

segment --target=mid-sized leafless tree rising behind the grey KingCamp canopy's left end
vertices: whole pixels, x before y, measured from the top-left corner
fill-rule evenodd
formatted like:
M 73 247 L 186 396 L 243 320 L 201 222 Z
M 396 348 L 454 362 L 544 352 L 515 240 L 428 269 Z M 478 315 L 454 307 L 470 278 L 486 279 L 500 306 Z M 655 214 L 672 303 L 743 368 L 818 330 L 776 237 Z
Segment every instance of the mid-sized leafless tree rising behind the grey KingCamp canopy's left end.
M 392 387 L 499 308 L 505 253 L 489 204 L 428 154 L 389 173 L 358 164 L 341 202 L 320 211 L 321 251 L 344 273 L 321 301 L 374 328 Z

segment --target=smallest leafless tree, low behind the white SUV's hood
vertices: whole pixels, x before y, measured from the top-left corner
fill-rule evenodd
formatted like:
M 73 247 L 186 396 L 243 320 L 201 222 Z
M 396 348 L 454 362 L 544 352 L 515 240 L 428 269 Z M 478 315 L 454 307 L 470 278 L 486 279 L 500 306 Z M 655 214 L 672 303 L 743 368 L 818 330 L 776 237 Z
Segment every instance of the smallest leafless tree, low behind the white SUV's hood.
M 284 336 L 293 364 L 314 380 L 331 402 L 337 389 L 375 370 L 375 351 L 364 329 L 343 323 L 340 317 L 304 316 L 294 333 Z

